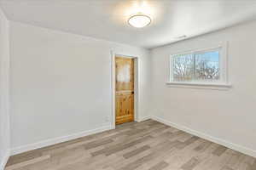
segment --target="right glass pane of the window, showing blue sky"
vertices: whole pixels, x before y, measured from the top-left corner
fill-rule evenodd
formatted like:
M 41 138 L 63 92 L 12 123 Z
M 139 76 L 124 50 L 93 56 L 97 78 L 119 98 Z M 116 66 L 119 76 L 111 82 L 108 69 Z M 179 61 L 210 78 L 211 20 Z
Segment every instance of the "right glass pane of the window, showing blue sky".
M 219 80 L 219 52 L 195 54 L 195 81 Z

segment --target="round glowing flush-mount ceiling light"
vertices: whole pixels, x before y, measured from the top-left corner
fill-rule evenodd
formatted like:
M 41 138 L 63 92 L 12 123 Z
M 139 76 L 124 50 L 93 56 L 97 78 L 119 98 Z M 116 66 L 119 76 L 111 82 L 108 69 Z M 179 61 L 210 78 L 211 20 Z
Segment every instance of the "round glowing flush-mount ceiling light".
M 143 28 L 151 23 L 151 18 L 146 14 L 134 14 L 132 15 L 128 23 L 136 28 Z

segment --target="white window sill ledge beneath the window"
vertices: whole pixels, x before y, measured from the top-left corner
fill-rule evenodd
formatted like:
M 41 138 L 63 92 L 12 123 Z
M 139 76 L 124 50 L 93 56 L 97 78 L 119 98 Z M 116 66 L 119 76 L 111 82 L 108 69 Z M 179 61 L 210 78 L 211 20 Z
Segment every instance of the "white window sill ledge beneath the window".
M 232 87 L 227 83 L 204 83 L 204 82 L 166 82 L 170 88 L 201 88 L 212 90 L 228 90 Z

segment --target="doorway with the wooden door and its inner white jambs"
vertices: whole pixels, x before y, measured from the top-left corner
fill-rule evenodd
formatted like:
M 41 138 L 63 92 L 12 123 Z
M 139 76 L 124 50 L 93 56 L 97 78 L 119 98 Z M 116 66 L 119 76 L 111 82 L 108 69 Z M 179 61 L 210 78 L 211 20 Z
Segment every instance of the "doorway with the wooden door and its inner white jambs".
M 113 54 L 113 127 L 137 120 L 137 58 Z

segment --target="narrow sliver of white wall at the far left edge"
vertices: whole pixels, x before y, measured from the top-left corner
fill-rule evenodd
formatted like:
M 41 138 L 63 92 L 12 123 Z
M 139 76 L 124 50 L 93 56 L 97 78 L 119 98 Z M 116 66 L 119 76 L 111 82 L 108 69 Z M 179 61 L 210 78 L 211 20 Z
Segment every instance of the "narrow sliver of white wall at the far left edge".
M 0 8 L 0 169 L 9 157 L 9 21 Z

